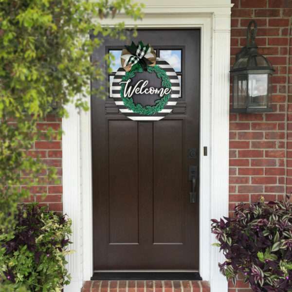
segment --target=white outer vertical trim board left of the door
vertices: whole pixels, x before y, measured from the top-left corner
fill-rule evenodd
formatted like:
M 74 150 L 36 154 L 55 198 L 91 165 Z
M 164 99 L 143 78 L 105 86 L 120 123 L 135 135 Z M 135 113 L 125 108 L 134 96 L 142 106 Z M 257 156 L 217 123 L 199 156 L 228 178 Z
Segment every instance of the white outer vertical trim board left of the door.
M 69 118 L 62 119 L 62 167 L 63 167 L 63 212 L 73 221 L 69 249 L 74 253 L 66 256 L 72 281 L 66 286 L 65 292 L 80 292 L 83 282 L 82 269 L 80 269 L 82 251 L 82 204 L 81 204 L 81 164 L 80 164 L 80 115 L 73 104 L 66 107 Z

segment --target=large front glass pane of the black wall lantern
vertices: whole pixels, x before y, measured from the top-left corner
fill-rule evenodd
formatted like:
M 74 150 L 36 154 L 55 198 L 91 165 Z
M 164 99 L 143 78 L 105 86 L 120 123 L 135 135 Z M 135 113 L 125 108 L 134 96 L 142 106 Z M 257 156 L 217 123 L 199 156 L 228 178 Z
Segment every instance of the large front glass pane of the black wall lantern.
M 249 74 L 249 108 L 268 107 L 268 74 Z

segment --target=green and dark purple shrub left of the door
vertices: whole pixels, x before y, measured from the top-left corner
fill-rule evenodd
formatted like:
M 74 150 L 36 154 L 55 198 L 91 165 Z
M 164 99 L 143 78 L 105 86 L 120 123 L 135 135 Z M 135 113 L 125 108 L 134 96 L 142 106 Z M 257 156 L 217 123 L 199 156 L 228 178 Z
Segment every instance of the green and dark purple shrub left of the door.
M 71 219 L 37 203 L 20 205 L 15 231 L 0 235 L 2 284 L 12 291 L 61 291 L 70 282 L 65 255 L 71 233 Z

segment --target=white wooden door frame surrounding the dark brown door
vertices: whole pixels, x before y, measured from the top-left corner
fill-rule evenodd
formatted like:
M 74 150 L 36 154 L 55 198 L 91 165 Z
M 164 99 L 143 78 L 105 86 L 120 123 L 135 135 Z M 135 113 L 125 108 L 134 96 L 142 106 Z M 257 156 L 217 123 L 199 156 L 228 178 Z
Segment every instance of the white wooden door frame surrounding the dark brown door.
M 144 1 L 145 2 L 145 1 Z M 134 22 L 121 14 L 106 24 L 125 21 L 141 28 L 201 29 L 201 120 L 200 152 L 200 274 L 209 281 L 211 292 L 227 292 L 227 281 L 219 274 L 223 260 L 210 233 L 210 219 L 228 215 L 229 168 L 229 66 L 230 0 L 146 0 L 143 21 Z M 151 4 L 159 2 L 159 5 Z M 203 3 L 200 3 L 203 2 Z M 173 4 L 172 4 L 173 3 Z M 185 3 L 185 5 L 184 5 Z M 220 4 L 221 3 L 221 4 Z M 88 97 L 90 101 L 90 97 Z M 62 120 L 63 210 L 73 219 L 68 269 L 71 284 L 65 292 L 80 292 L 83 281 L 93 273 L 91 112 L 67 107 Z

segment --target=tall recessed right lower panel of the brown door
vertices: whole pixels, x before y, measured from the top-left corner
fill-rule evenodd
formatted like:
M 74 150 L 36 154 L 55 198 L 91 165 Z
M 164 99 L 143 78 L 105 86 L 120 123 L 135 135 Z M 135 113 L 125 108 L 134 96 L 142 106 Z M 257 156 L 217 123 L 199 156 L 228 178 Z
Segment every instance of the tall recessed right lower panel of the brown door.
M 162 120 L 154 124 L 154 244 L 183 243 L 182 133 L 182 120 Z

